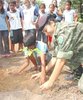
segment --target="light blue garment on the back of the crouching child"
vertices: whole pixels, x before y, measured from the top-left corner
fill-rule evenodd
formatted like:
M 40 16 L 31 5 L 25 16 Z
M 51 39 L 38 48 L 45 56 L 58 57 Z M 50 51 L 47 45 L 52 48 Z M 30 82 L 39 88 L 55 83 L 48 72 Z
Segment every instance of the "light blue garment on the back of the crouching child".
M 44 54 L 48 52 L 48 46 L 42 41 L 37 41 L 36 47 Z

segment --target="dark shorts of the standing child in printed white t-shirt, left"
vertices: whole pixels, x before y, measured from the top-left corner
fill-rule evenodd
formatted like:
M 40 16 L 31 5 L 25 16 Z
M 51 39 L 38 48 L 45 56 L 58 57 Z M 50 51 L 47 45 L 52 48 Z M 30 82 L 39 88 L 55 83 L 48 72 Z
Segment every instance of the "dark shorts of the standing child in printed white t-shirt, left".
M 10 32 L 10 39 L 12 44 L 23 43 L 22 29 L 12 30 Z

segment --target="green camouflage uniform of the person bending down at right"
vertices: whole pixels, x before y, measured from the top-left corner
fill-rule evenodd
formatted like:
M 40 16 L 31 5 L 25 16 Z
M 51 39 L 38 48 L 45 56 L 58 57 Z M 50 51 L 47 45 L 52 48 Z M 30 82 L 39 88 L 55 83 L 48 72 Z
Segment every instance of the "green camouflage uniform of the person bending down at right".
M 57 31 L 54 34 L 55 51 L 53 56 L 64 58 L 67 65 L 76 69 L 83 64 L 83 24 L 57 24 Z M 83 93 L 83 74 L 78 81 L 78 88 Z

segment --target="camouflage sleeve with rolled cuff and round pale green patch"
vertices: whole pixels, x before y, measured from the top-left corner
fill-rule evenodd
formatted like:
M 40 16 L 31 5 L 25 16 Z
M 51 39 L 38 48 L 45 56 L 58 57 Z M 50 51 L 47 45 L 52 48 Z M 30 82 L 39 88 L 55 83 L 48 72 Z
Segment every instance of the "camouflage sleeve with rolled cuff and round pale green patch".
M 75 49 L 75 25 L 67 25 L 59 30 L 57 37 L 57 58 L 71 59 Z

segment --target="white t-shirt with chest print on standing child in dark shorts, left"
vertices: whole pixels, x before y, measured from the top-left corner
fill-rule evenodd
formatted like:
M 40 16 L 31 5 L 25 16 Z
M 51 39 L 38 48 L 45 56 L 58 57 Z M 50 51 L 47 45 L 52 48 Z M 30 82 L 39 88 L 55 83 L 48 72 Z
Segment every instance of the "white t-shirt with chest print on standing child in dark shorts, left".
M 8 11 L 7 12 L 10 22 L 10 29 L 11 30 L 17 30 L 22 28 L 21 26 L 21 14 L 19 10 L 16 10 L 16 12 Z

